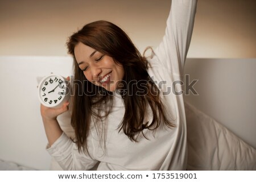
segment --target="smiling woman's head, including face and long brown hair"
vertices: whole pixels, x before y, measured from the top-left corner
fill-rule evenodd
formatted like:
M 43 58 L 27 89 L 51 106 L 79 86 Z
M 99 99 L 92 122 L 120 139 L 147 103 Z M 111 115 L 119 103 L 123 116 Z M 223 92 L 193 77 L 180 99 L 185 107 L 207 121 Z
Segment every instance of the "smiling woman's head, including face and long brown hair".
M 125 103 L 125 114 L 119 123 L 119 129 L 123 129 L 128 138 L 136 141 L 138 133 L 144 129 L 154 130 L 160 122 L 174 126 L 168 122 L 159 98 L 160 92 L 146 71 L 146 59 L 121 28 L 103 20 L 89 23 L 73 34 L 67 44 L 69 53 L 74 58 L 74 79 L 86 82 L 84 94 L 79 94 L 83 85 L 74 85 L 73 89 L 73 102 L 77 104 L 73 106 L 72 124 L 75 126 L 79 150 L 87 148 L 86 136 L 90 124 L 81 126 L 90 123 L 92 116 L 96 121 L 104 121 L 104 117 L 112 110 L 113 98 L 110 96 L 113 93 L 110 92 L 115 90 L 119 90 L 118 94 Z M 137 82 L 131 85 L 130 82 L 133 81 Z M 143 94 L 138 94 L 138 90 Z M 80 102 L 82 100 L 84 102 Z M 147 102 L 155 116 L 150 125 L 145 125 L 144 121 Z M 94 111 L 90 111 L 91 109 Z M 102 110 L 105 112 L 102 113 Z

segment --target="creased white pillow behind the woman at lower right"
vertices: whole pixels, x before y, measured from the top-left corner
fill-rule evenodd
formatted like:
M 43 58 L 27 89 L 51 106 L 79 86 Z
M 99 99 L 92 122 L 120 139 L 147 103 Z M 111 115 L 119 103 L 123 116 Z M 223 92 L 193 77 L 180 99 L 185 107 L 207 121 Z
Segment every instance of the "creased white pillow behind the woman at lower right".
M 256 170 L 256 150 L 213 118 L 185 103 L 188 170 Z

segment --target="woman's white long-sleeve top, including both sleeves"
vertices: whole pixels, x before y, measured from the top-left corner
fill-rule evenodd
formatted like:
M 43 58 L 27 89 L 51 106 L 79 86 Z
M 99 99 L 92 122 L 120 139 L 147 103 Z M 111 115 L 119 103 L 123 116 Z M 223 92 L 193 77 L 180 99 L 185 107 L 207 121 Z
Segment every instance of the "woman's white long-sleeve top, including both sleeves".
M 100 142 L 95 127 L 88 136 L 88 151 L 78 152 L 77 146 L 63 133 L 49 154 L 65 170 L 185 170 L 187 167 L 187 134 L 184 101 L 181 91 L 183 68 L 191 41 L 196 13 L 196 0 L 172 0 L 163 41 L 148 60 L 148 74 L 162 91 L 168 119 L 176 125 L 143 130 L 138 142 L 131 141 L 118 126 L 125 113 L 121 96 L 115 92 L 113 109 L 105 122 L 105 145 Z M 178 81 L 178 82 L 175 82 Z M 175 90 L 173 90 L 173 83 Z M 174 94 L 176 91 L 176 94 Z M 146 115 L 151 121 L 152 115 Z

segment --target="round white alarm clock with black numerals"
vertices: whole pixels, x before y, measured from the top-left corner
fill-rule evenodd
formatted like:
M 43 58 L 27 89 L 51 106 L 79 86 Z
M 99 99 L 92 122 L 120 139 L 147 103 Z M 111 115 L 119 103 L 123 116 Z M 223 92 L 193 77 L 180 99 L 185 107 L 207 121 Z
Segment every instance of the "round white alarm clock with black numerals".
M 60 75 L 48 75 L 38 85 L 40 102 L 46 107 L 59 108 L 70 98 L 70 83 Z

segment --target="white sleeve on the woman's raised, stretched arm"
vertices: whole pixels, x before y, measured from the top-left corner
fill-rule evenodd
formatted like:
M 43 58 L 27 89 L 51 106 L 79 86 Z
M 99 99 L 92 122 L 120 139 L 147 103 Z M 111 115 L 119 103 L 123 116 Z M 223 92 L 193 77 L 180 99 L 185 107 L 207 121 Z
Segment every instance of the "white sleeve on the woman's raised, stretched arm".
M 172 74 L 183 75 L 183 68 L 196 14 L 197 0 L 172 0 L 162 42 L 155 56 Z

